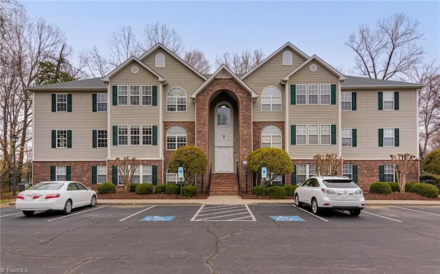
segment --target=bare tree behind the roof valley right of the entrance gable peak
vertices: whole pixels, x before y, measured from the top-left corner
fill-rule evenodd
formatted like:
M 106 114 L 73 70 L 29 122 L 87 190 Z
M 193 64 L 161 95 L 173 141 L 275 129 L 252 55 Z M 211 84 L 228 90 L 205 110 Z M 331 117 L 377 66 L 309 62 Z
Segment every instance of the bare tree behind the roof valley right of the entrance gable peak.
M 261 49 L 245 49 L 243 52 L 225 52 L 223 56 L 216 58 L 216 65 L 219 68 L 225 65 L 236 74 L 245 74 L 264 59 Z

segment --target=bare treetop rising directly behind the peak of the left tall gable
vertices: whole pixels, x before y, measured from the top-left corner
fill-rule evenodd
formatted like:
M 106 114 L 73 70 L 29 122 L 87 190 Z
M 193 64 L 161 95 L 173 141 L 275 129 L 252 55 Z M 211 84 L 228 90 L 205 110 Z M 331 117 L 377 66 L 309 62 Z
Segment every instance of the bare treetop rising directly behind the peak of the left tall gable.
M 181 56 L 184 52 L 184 45 L 179 34 L 175 30 L 170 29 L 166 23 L 156 22 L 153 25 L 147 24 L 145 26 L 144 41 L 141 43 L 144 52 L 151 49 L 157 43 L 161 43 L 177 56 Z

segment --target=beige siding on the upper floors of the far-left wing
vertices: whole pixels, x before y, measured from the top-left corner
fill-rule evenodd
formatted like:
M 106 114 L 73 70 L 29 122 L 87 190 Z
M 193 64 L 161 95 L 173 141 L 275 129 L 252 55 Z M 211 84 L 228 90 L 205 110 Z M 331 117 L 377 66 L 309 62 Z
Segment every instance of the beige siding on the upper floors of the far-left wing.
M 34 160 L 104 161 L 107 159 L 107 148 L 93 148 L 93 130 L 107 129 L 107 112 L 94 113 L 92 110 L 92 94 L 97 92 L 58 92 L 72 94 L 72 112 L 69 113 L 52 112 L 54 93 L 57 91 L 34 93 Z M 72 130 L 72 148 L 52 148 L 52 130 Z

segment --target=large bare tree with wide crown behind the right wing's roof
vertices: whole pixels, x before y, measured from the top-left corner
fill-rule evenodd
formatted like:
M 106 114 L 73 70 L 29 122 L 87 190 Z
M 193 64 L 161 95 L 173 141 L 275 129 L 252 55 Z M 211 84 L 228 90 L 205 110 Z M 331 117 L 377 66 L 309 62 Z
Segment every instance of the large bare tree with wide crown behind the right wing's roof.
M 372 29 L 361 25 L 345 45 L 355 52 L 355 69 L 362 76 L 390 79 L 403 75 L 417 65 L 423 49 L 417 45 L 423 34 L 417 30 L 419 21 L 403 13 L 380 19 Z

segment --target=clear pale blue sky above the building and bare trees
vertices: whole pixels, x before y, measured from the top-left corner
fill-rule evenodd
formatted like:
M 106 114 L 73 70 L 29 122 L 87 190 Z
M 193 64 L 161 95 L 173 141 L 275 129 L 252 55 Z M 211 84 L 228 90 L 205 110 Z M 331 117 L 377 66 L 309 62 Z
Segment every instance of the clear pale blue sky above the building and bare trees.
M 347 73 L 354 54 L 344 42 L 364 23 L 404 12 L 420 22 L 425 61 L 440 61 L 440 1 L 25 1 L 65 32 L 74 52 L 107 52 L 111 32 L 131 25 L 142 38 L 145 25 L 166 23 L 186 49 L 201 49 L 213 67 L 216 56 L 261 49 L 269 56 L 287 41 Z

